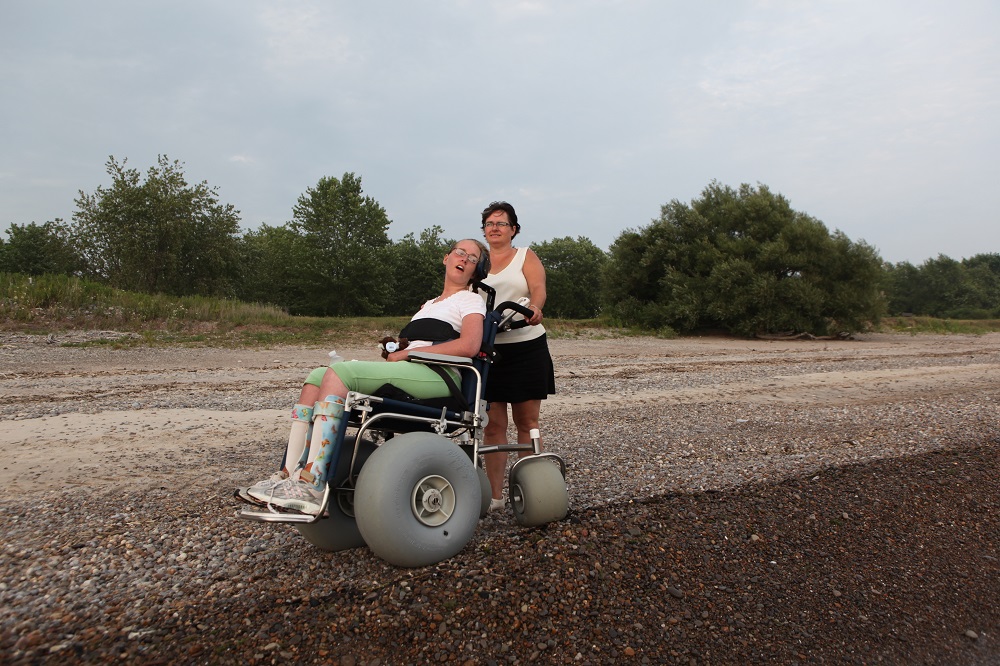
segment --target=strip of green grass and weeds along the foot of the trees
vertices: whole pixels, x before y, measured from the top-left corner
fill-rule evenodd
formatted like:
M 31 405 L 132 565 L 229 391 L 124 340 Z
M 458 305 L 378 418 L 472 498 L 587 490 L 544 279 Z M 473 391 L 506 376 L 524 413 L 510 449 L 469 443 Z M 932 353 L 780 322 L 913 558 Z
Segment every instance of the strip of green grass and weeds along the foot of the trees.
M 293 317 L 274 305 L 203 296 L 139 294 L 63 275 L 0 273 L 0 331 L 130 334 L 75 343 L 77 346 L 371 344 L 383 336 L 398 334 L 407 321 L 409 317 Z M 545 328 L 552 339 L 678 337 L 669 328 L 654 331 L 623 327 L 605 318 L 546 319 Z M 1000 320 L 886 317 L 879 330 L 912 335 L 982 335 L 1000 331 Z

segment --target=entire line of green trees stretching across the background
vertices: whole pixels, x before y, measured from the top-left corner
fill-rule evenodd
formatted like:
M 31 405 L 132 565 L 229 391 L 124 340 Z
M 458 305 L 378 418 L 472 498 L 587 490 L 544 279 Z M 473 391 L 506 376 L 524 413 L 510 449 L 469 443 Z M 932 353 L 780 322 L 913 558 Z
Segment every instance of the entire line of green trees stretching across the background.
M 307 188 L 286 224 L 241 232 L 239 211 L 207 183 L 188 183 L 180 162 L 160 156 L 145 174 L 114 157 L 106 166 L 111 185 L 81 191 L 71 222 L 11 225 L 0 272 L 296 315 L 406 315 L 438 290 L 454 241 L 439 226 L 391 240 L 385 209 L 353 173 Z M 1000 317 L 1000 255 L 885 263 L 763 185 L 712 182 L 699 199 L 673 200 L 648 226 L 622 232 L 608 252 L 584 237 L 531 247 L 546 268 L 549 317 L 738 335 L 849 333 L 886 314 Z

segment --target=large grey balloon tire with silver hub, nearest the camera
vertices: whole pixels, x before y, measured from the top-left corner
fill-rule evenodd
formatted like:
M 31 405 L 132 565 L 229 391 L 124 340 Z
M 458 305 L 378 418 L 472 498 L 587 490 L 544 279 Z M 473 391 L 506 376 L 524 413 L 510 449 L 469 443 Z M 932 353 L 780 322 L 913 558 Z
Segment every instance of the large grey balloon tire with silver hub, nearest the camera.
M 481 498 L 480 477 L 461 447 L 411 432 L 380 446 L 362 468 L 355 517 L 373 553 L 398 567 L 423 567 L 465 547 Z

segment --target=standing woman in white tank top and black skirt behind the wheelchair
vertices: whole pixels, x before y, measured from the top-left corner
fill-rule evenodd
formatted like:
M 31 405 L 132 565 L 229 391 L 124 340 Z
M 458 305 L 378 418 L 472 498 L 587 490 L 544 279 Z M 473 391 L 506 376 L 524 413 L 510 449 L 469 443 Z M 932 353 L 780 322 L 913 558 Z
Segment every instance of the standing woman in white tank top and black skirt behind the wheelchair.
M 545 268 L 529 248 L 516 248 L 514 237 L 521 231 L 514 207 L 494 201 L 483 211 L 483 235 L 490 246 L 490 274 L 483 280 L 496 289 L 496 303 L 529 299 L 529 326 L 497 334 L 497 358 L 486 382 L 490 403 L 484 444 L 507 444 L 507 406 L 517 428 L 519 444 L 531 443 L 531 430 L 538 428 L 542 400 L 556 392 L 552 356 L 542 323 L 545 305 Z M 519 452 L 520 457 L 531 455 Z M 504 506 L 503 480 L 507 471 L 505 452 L 485 457 L 486 475 L 493 489 L 490 510 Z

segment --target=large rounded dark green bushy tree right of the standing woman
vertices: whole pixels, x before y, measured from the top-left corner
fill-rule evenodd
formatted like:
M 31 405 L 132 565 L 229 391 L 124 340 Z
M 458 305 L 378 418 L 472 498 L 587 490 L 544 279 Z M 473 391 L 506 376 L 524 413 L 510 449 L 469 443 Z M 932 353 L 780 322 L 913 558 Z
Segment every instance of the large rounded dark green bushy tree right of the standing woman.
M 882 314 L 881 260 L 761 185 L 711 183 L 611 246 L 604 303 L 614 319 L 740 335 L 855 331 Z

